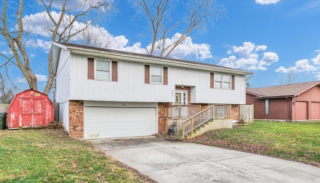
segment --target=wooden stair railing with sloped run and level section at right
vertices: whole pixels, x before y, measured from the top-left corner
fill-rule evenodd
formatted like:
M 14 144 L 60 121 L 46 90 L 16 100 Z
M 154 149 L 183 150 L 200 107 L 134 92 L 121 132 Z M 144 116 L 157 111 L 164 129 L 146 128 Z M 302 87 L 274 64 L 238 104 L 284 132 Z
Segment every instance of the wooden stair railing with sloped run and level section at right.
M 211 105 L 182 122 L 182 139 L 194 129 L 215 118 L 229 119 L 231 105 Z

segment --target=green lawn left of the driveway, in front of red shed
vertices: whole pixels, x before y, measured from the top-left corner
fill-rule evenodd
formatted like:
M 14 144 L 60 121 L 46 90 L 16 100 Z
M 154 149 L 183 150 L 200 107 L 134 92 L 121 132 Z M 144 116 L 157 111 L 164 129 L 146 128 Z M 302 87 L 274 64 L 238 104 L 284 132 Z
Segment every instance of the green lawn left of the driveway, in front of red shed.
M 141 183 L 144 178 L 62 130 L 0 131 L 1 183 Z

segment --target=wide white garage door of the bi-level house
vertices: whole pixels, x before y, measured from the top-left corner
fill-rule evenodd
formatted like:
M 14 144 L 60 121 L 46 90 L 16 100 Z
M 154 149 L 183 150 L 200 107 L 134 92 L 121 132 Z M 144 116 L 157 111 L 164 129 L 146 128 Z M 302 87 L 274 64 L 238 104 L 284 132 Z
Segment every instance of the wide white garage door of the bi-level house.
M 154 107 L 85 107 L 84 139 L 155 134 Z

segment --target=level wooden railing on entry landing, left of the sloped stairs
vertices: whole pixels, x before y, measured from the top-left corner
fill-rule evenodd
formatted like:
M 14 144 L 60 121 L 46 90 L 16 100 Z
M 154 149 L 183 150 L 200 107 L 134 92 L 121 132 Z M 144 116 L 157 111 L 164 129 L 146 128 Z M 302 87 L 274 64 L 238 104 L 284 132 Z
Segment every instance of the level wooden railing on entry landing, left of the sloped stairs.
M 169 105 L 166 106 L 166 117 L 173 119 L 185 119 L 200 111 L 201 105 Z

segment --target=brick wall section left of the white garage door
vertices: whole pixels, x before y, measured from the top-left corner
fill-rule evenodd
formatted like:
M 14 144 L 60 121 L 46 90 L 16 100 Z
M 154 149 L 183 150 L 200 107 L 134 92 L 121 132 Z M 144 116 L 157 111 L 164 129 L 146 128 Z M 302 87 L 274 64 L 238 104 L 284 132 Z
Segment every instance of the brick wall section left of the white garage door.
M 69 101 L 69 136 L 83 139 L 83 100 Z

